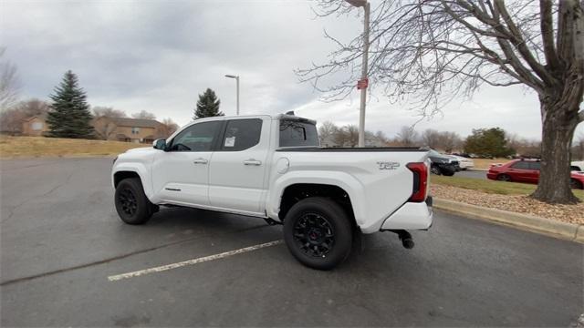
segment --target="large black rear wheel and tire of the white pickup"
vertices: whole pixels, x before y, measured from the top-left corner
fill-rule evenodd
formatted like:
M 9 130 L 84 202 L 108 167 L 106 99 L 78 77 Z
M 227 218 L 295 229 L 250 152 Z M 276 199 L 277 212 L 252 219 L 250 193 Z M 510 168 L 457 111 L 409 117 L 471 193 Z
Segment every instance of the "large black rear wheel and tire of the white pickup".
M 340 205 L 322 197 L 298 201 L 284 219 L 288 251 L 302 264 L 330 270 L 349 256 L 352 225 Z

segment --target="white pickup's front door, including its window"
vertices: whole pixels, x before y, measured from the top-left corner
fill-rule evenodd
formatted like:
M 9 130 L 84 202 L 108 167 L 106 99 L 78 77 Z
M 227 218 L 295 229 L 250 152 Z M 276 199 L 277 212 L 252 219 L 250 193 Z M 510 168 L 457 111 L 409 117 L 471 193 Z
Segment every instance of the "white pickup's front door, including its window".
M 185 128 L 152 163 L 152 187 L 162 200 L 209 205 L 209 163 L 223 120 Z

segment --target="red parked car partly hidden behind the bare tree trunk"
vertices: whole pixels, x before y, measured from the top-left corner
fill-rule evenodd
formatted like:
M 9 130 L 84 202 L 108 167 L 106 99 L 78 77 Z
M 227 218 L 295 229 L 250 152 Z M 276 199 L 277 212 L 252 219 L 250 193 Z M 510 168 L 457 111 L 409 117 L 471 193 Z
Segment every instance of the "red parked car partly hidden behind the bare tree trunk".
M 515 159 L 503 165 L 494 165 L 486 172 L 486 178 L 499 181 L 537 183 L 539 180 L 539 160 Z M 570 173 L 570 186 L 584 189 L 584 172 Z

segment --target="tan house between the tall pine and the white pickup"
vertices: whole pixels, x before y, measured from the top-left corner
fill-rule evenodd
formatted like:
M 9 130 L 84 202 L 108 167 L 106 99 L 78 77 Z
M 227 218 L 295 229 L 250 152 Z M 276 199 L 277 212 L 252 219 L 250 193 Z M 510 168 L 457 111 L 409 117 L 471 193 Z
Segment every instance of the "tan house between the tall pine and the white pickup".
M 135 143 L 151 143 L 157 138 L 166 138 L 164 125 L 155 119 L 109 118 L 93 120 L 98 138 Z

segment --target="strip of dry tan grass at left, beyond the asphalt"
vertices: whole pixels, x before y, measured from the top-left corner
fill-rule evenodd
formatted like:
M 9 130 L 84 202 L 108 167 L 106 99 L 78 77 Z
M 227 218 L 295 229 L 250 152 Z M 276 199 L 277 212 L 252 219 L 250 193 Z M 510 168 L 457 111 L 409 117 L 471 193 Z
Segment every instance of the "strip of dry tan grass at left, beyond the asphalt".
M 148 146 L 120 141 L 0 136 L 0 157 L 16 159 L 116 156 L 128 149 Z

